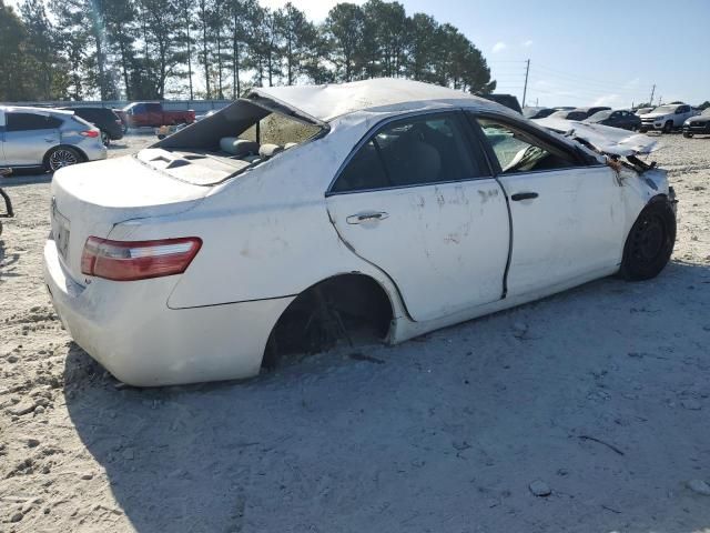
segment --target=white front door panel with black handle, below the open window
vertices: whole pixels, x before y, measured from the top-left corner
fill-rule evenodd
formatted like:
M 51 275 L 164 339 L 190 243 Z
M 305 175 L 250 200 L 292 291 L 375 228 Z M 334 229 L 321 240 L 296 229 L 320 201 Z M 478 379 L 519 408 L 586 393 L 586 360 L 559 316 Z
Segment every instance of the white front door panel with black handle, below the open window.
M 510 202 L 510 296 L 618 269 L 626 239 L 622 188 L 608 167 L 500 175 Z

